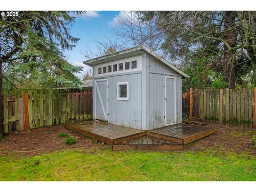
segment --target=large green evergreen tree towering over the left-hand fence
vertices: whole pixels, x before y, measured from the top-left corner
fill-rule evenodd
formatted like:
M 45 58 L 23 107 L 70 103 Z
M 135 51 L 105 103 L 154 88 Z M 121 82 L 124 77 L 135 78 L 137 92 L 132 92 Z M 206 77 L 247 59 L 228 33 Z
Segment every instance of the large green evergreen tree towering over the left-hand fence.
M 13 17 L 1 16 L 1 101 L 2 89 L 78 87 L 81 82 L 74 73 L 81 68 L 62 54 L 79 41 L 69 31 L 74 20 L 68 11 L 18 11 Z M 2 102 L 0 111 L 3 134 Z

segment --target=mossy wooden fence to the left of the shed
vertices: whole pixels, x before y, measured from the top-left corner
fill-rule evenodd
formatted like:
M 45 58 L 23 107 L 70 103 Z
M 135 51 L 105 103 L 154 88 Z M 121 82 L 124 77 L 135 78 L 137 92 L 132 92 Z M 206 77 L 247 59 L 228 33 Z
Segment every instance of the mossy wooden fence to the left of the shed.
M 4 132 L 93 119 L 92 89 L 3 91 Z

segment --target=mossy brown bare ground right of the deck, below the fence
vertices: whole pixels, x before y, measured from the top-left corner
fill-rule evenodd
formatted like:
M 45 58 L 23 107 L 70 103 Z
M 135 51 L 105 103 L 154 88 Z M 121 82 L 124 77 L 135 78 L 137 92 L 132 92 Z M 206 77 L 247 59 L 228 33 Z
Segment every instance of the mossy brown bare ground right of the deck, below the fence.
M 252 145 L 252 135 L 256 135 L 256 129 L 213 123 L 207 126 L 215 127 L 217 132 L 209 137 L 191 143 L 186 146 L 185 150 L 198 151 L 207 148 L 224 153 L 256 155 L 256 149 Z

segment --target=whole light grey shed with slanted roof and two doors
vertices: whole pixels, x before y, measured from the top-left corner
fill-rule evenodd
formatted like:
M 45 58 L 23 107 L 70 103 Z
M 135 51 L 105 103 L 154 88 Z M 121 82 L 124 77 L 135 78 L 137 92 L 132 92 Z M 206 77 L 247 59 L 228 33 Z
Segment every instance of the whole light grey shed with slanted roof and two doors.
M 93 68 L 93 116 L 110 124 L 153 130 L 182 123 L 177 67 L 143 45 L 84 61 Z

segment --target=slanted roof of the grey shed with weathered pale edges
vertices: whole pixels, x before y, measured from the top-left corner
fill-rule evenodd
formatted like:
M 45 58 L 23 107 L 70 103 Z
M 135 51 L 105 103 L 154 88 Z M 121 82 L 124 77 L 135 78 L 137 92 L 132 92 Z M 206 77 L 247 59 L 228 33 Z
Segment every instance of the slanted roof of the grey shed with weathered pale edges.
M 93 59 L 84 61 L 83 63 L 85 65 L 88 65 L 88 66 L 92 67 L 93 65 L 97 65 L 99 63 L 109 62 L 109 61 L 113 60 L 113 57 L 115 57 L 115 60 L 117 60 L 117 59 L 122 59 L 123 57 L 132 57 L 134 55 L 138 55 L 138 54 L 144 53 L 145 51 L 150 53 L 151 55 L 153 55 L 158 60 L 162 61 L 168 67 L 170 67 L 173 70 L 177 71 L 177 73 L 179 73 L 183 77 L 189 77 L 186 73 L 184 73 L 183 71 L 178 69 L 175 65 L 173 65 L 173 64 L 169 63 L 168 61 L 166 61 L 165 59 L 161 58 L 154 51 L 148 49 L 144 45 L 139 45 L 139 46 L 132 47 L 130 49 L 126 49 L 126 50 L 110 53 L 110 54 L 107 54 L 107 55 L 103 55 L 101 57 L 97 57 L 97 58 L 93 58 Z

